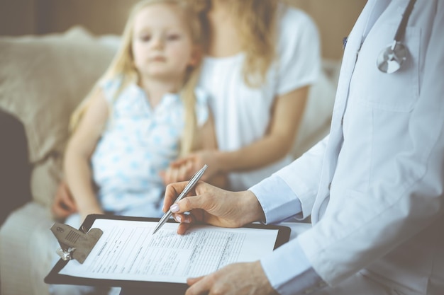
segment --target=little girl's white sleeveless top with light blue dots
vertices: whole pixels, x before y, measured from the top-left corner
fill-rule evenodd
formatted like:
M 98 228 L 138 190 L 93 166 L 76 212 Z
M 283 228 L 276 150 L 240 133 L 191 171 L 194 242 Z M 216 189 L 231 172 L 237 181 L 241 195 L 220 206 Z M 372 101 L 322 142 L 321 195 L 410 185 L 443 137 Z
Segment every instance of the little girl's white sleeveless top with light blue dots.
M 184 130 L 184 105 L 177 93 L 167 93 L 151 108 L 145 91 L 132 83 L 115 93 L 120 79 L 101 83 L 110 115 L 94 154 L 91 170 L 105 211 L 128 216 L 162 216 L 165 186 L 160 171 L 179 155 Z M 209 117 L 207 98 L 196 89 L 196 118 Z

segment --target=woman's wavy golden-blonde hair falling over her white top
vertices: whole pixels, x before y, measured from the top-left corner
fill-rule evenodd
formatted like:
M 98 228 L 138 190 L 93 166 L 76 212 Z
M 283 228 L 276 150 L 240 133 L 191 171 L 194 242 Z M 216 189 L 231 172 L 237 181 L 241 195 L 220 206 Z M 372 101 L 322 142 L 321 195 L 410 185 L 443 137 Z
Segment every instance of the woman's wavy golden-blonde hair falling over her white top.
M 207 13 L 211 0 L 187 0 L 199 13 L 204 23 L 204 35 L 209 38 Z M 267 71 L 276 57 L 276 23 L 279 0 L 227 0 L 231 16 L 237 21 L 242 49 L 245 52 L 243 80 L 248 86 L 258 87 L 267 79 Z

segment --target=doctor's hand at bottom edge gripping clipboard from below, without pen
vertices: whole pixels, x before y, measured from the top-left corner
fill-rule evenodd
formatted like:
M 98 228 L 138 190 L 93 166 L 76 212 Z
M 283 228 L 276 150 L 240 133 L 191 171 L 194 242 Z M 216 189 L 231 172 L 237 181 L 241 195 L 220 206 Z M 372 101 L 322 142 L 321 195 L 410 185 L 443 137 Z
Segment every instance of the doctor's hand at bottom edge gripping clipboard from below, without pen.
M 187 279 L 190 287 L 185 295 L 272 295 L 270 285 L 259 261 L 234 263 L 204 277 Z

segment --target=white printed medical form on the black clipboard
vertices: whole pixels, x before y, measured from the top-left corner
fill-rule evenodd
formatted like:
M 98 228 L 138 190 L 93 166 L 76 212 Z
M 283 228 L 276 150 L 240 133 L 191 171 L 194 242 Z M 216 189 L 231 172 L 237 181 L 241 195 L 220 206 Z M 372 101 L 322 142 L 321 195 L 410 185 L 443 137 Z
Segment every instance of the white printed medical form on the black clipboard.
M 186 283 L 233 262 L 251 262 L 271 253 L 278 229 L 226 229 L 197 225 L 177 234 L 168 222 L 152 235 L 157 222 L 95 219 L 103 231 L 84 263 L 67 262 L 58 274 L 88 279 Z

